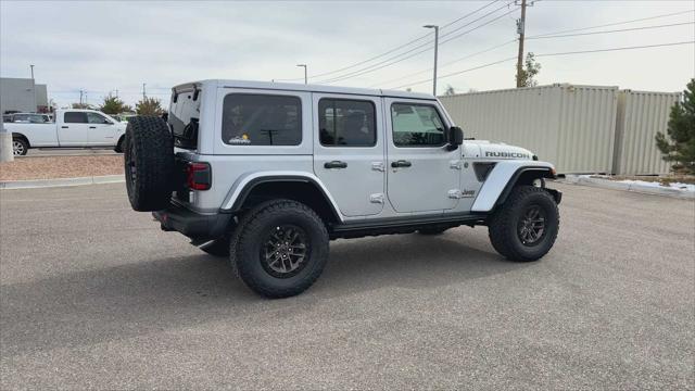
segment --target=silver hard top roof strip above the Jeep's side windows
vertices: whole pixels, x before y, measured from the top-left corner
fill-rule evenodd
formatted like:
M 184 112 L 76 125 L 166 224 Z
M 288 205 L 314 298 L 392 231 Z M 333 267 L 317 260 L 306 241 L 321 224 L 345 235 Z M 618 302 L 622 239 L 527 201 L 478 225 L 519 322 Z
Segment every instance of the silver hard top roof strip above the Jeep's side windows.
M 396 90 L 354 88 L 354 87 L 336 87 L 324 85 L 304 85 L 295 83 L 273 83 L 273 81 L 250 81 L 250 80 L 228 80 L 228 79 L 211 79 L 191 81 L 175 86 L 172 90 L 182 92 L 197 87 L 212 88 L 247 88 L 247 89 L 264 89 L 264 90 L 285 90 L 285 91 L 307 91 L 307 92 L 328 92 L 328 93 L 348 93 L 376 97 L 394 97 L 409 99 L 435 100 L 437 98 L 428 93 L 407 92 Z

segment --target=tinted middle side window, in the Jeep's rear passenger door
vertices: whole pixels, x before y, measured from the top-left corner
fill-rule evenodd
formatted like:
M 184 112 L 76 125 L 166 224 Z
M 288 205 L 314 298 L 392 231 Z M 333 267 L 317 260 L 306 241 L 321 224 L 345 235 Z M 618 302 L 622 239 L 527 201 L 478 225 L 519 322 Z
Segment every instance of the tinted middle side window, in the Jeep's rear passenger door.
M 318 102 L 318 124 L 321 146 L 374 147 L 377 143 L 372 102 L 321 99 Z

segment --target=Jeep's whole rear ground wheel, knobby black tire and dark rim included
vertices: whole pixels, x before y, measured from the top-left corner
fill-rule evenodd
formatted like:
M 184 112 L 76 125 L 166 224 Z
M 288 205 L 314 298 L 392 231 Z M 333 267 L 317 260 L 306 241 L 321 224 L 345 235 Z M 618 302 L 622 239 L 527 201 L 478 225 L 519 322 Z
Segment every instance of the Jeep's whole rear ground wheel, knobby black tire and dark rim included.
M 329 242 L 316 212 L 296 201 L 274 200 L 242 219 L 230 260 L 251 290 L 266 298 L 288 298 L 316 281 L 328 261 Z

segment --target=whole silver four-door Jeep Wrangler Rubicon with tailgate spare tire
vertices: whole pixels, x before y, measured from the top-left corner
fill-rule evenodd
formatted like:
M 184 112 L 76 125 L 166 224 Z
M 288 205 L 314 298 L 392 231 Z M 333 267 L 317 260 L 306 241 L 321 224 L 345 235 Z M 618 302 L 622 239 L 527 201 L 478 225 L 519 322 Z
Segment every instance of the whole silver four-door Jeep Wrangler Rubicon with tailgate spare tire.
M 552 164 L 464 140 L 421 93 L 189 83 L 173 88 L 166 122 L 130 119 L 124 152 L 132 209 L 228 256 L 269 298 L 307 289 L 331 239 L 482 225 L 500 254 L 526 262 L 559 227 Z

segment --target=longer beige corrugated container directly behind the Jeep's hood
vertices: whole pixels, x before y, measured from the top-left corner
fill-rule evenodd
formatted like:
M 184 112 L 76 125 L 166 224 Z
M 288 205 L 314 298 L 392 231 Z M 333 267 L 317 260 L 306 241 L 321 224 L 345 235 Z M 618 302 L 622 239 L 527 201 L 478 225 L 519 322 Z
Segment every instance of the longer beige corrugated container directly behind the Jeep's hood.
M 466 137 L 527 148 L 559 173 L 609 173 L 618 87 L 552 85 L 440 97 Z

